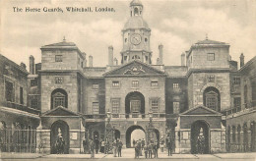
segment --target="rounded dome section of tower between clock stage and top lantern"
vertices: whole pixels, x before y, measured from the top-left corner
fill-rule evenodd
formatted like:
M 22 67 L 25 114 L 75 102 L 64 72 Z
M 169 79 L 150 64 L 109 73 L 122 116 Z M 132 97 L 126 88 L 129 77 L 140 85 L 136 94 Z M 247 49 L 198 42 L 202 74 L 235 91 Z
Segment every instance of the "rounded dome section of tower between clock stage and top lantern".
M 150 29 L 150 27 L 148 26 L 148 24 L 143 20 L 142 17 L 131 17 L 128 22 L 125 24 L 124 26 L 124 30 L 125 29 L 129 29 L 129 28 L 148 28 Z

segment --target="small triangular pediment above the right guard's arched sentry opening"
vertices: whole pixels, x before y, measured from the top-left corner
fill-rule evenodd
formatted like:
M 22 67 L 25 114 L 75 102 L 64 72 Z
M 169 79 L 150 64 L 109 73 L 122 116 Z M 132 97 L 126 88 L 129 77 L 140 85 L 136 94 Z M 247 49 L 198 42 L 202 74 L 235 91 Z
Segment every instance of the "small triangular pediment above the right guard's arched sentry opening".
M 214 111 L 208 107 L 205 106 L 197 106 L 195 108 L 189 109 L 180 115 L 216 115 L 216 116 L 222 116 L 221 113 Z

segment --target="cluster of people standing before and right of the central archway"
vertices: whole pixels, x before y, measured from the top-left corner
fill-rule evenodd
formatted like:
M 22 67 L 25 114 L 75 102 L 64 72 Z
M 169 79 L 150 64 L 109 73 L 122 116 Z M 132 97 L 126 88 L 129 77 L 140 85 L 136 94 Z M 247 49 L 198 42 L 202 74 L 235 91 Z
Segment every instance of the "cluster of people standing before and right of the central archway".
M 144 151 L 145 158 L 153 158 L 153 155 L 154 158 L 158 158 L 159 148 L 161 149 L 161 152 L 163 152 L 164 140 L 150 140 L 148 143 L 146 143 L 144 139 L 133 140 L 133 147 L 135 149 L 135 158 L 143 156 L 142 151 Z M 168 156 L 170 156 L 172 152 L 171 139 L 166 139 L 166 148 L 168 150 Z

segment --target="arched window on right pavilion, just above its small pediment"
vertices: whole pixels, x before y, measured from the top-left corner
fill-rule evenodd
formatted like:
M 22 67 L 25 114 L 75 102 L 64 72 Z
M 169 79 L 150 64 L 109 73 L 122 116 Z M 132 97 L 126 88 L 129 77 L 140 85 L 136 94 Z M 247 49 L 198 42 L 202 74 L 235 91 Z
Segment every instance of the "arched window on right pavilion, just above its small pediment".
M 217 88 L 210 86 L 205 89 L 204 105 L 215 111 L 221 111 L 221 97 Z

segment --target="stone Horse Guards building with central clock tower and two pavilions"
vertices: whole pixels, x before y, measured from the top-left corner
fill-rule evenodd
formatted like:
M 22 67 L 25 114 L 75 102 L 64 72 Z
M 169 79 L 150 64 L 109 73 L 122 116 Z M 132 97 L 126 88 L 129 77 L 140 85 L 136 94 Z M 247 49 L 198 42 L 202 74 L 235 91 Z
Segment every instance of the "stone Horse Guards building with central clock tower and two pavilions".
M 61 136 L 64 153 L 82 153 L 83 140 L 107 140 L 109 127 L 113 139 L 120 138 L 126 148 L 132 146 L 135 130 L 148 139 L 151 127 L 153 140 L 172 140 L 175 153 L 254 150 L 255 58 L 244 65 L 241 55 L 238 70 L 229 44 L 206 37 L 181 54 L 181 66 L 163 65 L 160 44 L 155 65 L 143 12 L 139 0 L 130 3 L 121 65 L 109 46 L 108 65 L 94 67 L 93 56 L 87 61 L 86 53 L 65 38 L 40 48 L 40 64 L 30 58 L 30 74 L 14 65 L 23 74 L 24 105 L 40 110 L 39 117 L 33 116 L 37 152 L 56 153 Z M 0 79 L 10 79 L 5 75 Z M 204 151 L 198 150 L 199 136 Z

